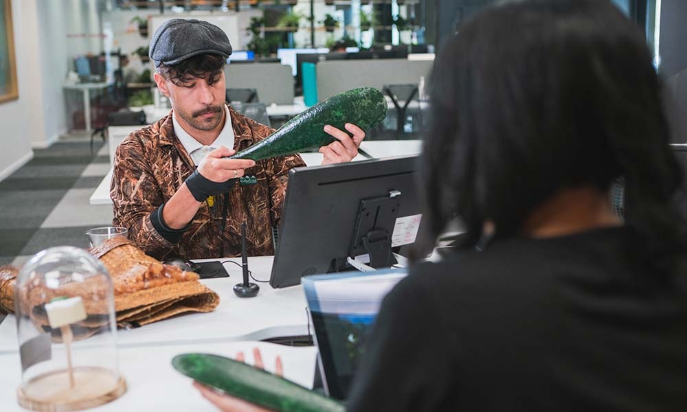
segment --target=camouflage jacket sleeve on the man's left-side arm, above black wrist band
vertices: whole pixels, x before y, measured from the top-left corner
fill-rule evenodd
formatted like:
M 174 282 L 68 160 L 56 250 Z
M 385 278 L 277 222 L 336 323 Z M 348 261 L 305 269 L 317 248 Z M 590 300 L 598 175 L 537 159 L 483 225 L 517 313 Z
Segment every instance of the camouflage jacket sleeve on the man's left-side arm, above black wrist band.
M 135 134 L 122 141 L 115 152 L 110 197 L 112 224 L 126 227 L 128 238 L 147 255 L 163 259 L 174 244 L 155 230 L 150 214 L 164 203 L 164 197 L 146 162 L 143 144 Z

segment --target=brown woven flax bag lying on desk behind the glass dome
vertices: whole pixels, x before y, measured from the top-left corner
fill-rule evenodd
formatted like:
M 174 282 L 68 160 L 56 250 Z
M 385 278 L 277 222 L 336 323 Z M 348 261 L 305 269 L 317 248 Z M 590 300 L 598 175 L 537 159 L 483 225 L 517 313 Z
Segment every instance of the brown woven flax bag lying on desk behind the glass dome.
M 211 312 L 219 304 L 219 297 L 199 282 L 199 275 L 162 264 L 150 258 L 124 238 L 112 238 L 91 249 L 91 253 L 109 271 L 115 295 L 117 325 L 122 327 L 141 326 L 184 312 Z M 0 307 L 14 312 L 14 284 L 19 271 L 12 266 L 0 268 Z M 30 308 L 37 328 L 50 330 L 44 304 L 54 297 L 85 296 L 100 293 L 102 284 L 73 282 L 60 288 L 46 288 L 37 285 L 22 293 L 27 296 L 21 302 Z M 102 295 L 105 291 L 102 290 Z M 71 325 L 75 339 L 95 334 L 107 324 L 109 308 L 106 300 L 84 299 L 88 317 Z

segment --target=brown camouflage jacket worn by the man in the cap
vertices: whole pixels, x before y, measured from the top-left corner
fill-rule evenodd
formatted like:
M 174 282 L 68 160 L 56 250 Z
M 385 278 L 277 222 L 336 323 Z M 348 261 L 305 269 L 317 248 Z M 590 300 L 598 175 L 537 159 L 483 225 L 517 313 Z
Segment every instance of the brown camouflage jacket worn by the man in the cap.
M 269 136 L 273 129 L 231 110 L 234 150 L 243 150 Z M 247 221 L 249 255 L 274 253 L 271 227 L 278 225 L 286 179 L 291 168 L 305 165 L 299 155 L 258 161 L 246 170 L 244 181 L 229 192 L 227 222 L 222 227 L 224 196 L 214 205 L 204 202 L 181 241 L 172 244 L 150 222 L 150 214 L 177 192 L 194 171 L 194 163 L 174 134 L 172 112 L 159 121 L 128 135 L 117 147 L 110 197 L 113 225 L 128 228 L 128 237 L 148 255 L 160 260 L 179 256 L 188 259 L 221 258 L 241 253 L 241 222 Z

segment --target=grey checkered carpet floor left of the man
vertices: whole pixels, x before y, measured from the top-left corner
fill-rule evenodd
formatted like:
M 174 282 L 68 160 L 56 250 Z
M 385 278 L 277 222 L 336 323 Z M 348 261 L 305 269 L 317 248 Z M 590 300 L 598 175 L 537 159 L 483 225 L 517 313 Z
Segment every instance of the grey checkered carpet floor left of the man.
M 1 181 L 0 264 L 21 266 L 54 246 L 88 247 L 84 232 L 111 223 L 110 206 L 88 203 L 107 163 L 102 141 L 93 150 L 85 139 L 59 141 L 34 150 L 30 162 Z

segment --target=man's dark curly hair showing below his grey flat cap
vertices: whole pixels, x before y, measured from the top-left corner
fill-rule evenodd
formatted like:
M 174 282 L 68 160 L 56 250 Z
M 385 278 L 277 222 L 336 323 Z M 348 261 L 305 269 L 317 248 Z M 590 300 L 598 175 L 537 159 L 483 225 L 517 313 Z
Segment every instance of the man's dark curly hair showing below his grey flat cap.
M 206 79 L 209 84 L 214 84 L 226 64 L 225 58 L 218 54 L 198 54 L 177 65 L 161 63 L 157 73 L 177 86 L 183 86 L 194 78 Z

